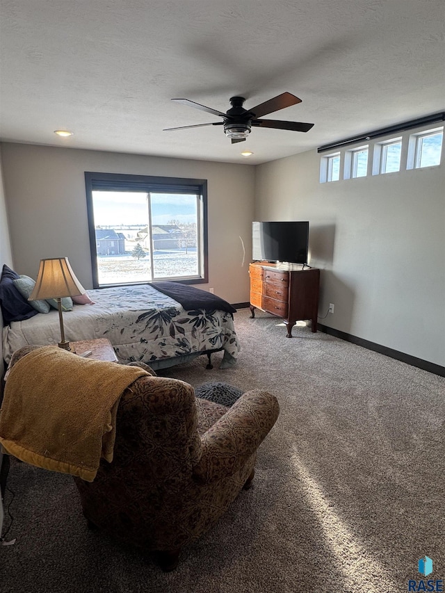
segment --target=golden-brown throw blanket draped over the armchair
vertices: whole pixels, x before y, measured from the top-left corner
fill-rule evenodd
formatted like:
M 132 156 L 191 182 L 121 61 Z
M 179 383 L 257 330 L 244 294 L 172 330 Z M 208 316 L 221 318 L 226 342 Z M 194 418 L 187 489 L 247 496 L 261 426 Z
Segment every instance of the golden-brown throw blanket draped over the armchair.
M 0 410 L 0 443 L 18 459 L 92 482 L 113 460 L 120 396 L 142 368 L 81 358 L 57 346 L 11 368 Z

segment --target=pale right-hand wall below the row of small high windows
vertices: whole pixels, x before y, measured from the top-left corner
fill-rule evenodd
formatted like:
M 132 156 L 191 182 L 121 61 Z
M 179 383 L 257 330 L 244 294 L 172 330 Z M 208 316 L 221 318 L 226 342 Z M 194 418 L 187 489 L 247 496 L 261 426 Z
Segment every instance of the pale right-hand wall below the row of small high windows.
M 409 134 L 409 133 L 408 133 Z M 405 133 L 404 136 L 406 136 Z M 445 165 L 319 183 L 320 155 L 257 167 L 255 220 L 309 220 L 320 322 L 445 365 Z

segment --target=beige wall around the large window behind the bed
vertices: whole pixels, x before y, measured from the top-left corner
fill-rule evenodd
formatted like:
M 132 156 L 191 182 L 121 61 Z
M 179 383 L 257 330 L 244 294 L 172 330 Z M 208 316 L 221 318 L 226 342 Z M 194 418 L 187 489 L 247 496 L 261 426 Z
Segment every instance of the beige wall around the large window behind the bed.
M 197 286 L 229 302 L 249 300 L 254 166 L 14 143 L 3 143 L 1 154 L 19 274 L 35 277 L 40 259 L 66 256 L 92 287 L 85 171 L 190 177 L 208 180 L 209 284 Z

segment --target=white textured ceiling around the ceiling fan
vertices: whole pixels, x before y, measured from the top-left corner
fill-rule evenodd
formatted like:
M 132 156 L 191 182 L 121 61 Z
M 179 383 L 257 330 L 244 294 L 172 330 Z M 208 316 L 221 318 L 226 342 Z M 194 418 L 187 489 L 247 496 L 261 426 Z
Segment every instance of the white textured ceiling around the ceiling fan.
M 4 141 L 264 163 L 445 109 L 444 0 L 0 0 L 0 22 Z M 163 131 L 220 121 L 172 97 L 285 91 L 267 118 L 309 132 Z

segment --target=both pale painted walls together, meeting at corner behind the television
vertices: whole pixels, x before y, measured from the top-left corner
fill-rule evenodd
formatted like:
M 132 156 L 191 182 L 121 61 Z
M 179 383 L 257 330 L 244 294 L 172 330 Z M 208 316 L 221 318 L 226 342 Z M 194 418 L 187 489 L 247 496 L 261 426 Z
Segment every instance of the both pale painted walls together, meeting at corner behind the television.
M 319 315 L 335 304 L 321 323 L 445 365 L 443 164 L 320 184 L 316 151 L 254 168 L 4 143 L 1 159 L 19 273 L 35 276 L 40 258 L 66 255 L 92 286 L 84 171 L 205 178 L 215 293 L 249 300 L 252 220 L 309 220 L 311 264 L 322 269 Z M 0 197 L 8 263 L 4 205 Z

